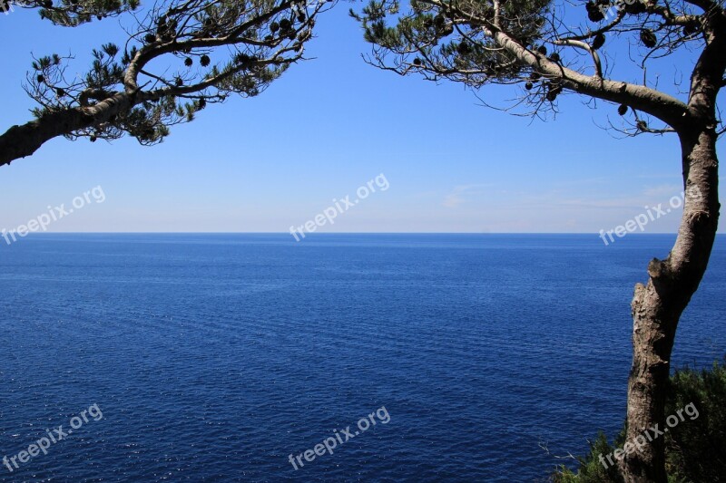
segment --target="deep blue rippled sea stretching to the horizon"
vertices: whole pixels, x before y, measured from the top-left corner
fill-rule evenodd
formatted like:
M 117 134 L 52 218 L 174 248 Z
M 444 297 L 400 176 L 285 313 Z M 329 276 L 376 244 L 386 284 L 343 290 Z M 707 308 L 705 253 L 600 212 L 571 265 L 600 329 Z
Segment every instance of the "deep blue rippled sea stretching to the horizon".
M 46 235 L 0 246 L 0 457 L 93 404 L 103 411 L 0 478 L 543 480 L 564 461 L 553 455 L 621 428 L 633 285 L 672 240 Z M 720 238 L 673 365 L 726 353 L 724 274 Z M 289 463 L 384 406 L 388 424 Z

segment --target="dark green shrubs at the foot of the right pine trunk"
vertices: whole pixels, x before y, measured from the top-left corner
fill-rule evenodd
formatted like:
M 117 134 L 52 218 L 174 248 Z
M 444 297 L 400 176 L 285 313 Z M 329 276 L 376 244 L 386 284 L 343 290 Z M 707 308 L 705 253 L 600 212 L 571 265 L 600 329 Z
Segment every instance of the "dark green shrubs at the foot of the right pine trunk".
M 710 371 L 684 368 L 671 378 L 665 405 L 666 415 L 678 414 L 689 404 L 698 413 L 684 415 L 679 424 L 665 433 L 665 459 L 669 483 L 721 481 L 726 475 L 726 357 L 714 362 Z M 622 483 L 616 467 L 603 465 L 600 456 L 622 448 L 625 431 L 610 445 L 603 433 L 579 458 L 577 472 L 560 466 L 552 475 L 555 483 Z M 613 459 L 614 460 L 614 459 Z M 605 466 L 608 468 L 605 469 Z

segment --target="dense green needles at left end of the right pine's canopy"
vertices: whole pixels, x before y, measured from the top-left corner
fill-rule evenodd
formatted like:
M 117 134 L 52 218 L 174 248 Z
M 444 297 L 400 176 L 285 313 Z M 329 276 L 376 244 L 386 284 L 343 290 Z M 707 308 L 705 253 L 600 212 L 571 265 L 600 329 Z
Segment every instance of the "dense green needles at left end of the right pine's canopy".
M 362 25 L 365 40 L 377 46 L 378 63 L 384 63 L 384 53 L 393 53 L 401 73 L 429 73 L 474 86 L 519 78 L 523 65 L 497 48 L 481 28 L 483 24 L 493 26 L 492 0 L 443 5 L 414 1 L 405 14 L 399 14 L 397 0 L 372 0 L 361 14 L 353 10 L 350 14 Z M 550 5 L 551 0 L 502 2 L 497 28 L 525 45 L 534 43 L 540 38 Z M 476 16 L 477 21 L 469 21 L 468 14 Z M 415 69 L 409 69 L 411 66 Z

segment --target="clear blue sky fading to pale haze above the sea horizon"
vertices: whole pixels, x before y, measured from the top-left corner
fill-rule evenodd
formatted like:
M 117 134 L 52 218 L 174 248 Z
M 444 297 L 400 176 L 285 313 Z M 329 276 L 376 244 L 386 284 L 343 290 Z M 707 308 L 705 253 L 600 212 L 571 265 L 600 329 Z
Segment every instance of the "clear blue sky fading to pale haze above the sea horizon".
M 661 203 L 672 211 L 644 231 L 677 230 L 675 136 L 617 139 L 603 129 L 617 106 L 575 95 L 561 96 L 556 120 L 533 121 L 486 108 L 461 84 L 379 71 L 361 59 L 369 45 L 349 6 L 320 17 L 311 60 L 259 97 L 172 127 L 161 145 L 60 138 L 0 168 L 0 229 L 53 214 L 49 232 L 281 233 L 349 196 L 358 203 L 319 232 L 596 236 Z M 0 14 L 0 130 L 32 119 L 22 83 L 33 55 L 73 54 L 83 73 L 93 47 L 123 38 L 119 22 L 67 29 L 34 11 Z M 478 95 L 505 106 L 517 90 Z M 358 198 L 366 185 L 375 192 Z

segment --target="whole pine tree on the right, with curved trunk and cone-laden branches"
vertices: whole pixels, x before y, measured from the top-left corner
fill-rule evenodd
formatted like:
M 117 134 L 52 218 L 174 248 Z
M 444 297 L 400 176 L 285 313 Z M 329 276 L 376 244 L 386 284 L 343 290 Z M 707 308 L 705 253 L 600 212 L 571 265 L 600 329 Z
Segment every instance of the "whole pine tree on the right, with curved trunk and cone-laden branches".
M 354 16 L 373 44 L 368 63 L 429 81 L 522 88 L 516 106 L 543 118 L 559 95 L 619 104 L 621 131 L 674 133 L 681 143 L 685 202 L 670 254 L 648 265 L 633 295 L 633 366 L 628 382 L 627 438 L 664 425 L 670 359 L 680 316 L 701 283 L 719 217 L 716 142 L 723 133 L 718 96 L 726 84 L 723 0 L 372 0 Z M 575 14 L 586 14 L 587 21 Z M 393 17 L 393 22 L 388 22 Z M 579 24 L 578 24 L 579 23 Z M 578 24 L 569 28 L 568 25 Z M 638 82 L 613 78 L 618 45 L 641 69 Z M 682 61 L 690 58 L 692 65 Z M 691 72 L 687 95 L 657 87 L 661 59 Z M 608 65 L 608 61 L 611 65 Z M 622 69 L 621 69 L 622 70 Z M 620 70 L 619 70 L 620 72 Z M 514 107 L 514 106 L 513 106 Z M 658 123 L 657 125 L 653 122 Z M 613 126 L 614 127 L 614 126 Z M 627 481 L 666 481 L 663 439 L 623 459 Z

